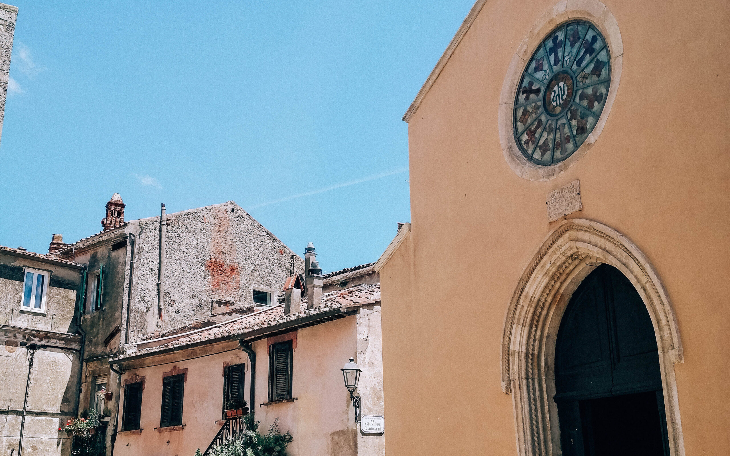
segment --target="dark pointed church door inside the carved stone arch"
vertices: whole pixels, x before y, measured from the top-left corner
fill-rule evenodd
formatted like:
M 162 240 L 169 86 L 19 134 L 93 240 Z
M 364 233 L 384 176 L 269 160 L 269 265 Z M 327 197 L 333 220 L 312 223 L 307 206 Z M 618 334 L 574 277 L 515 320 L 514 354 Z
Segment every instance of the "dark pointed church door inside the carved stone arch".
M 558 330 L 554 397 L 565 456 L 669 456 L 659 355 L 639 293 L 602 264 Z

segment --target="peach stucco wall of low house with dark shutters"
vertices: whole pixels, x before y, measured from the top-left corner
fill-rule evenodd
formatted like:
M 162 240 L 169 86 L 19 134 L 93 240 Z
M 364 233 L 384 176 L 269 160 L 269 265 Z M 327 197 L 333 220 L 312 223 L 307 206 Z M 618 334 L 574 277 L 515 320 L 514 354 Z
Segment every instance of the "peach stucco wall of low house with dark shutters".
M 288 447 L 291 456 L 356 455 L 356 427 L 350 395 L 345 389 L 340 369 L 347 358 L 356 354 L 356 316 L 304 328 L 297 333 L 293 355 L 293 397 L 296 401 L 259 406 L 267 401 L 269 355 L 266 339 L 255 341 L 256 391 L 255 404 L 250 404 L 256 420 L 261 421 L 266 433 L 274 419 L 279 418 L 283 432 L 290 431 L 293 441 Z M 223 363 L 246 363 L 245 397 L 250 398 L 250 363 L 247 355 L 237 349 L 237 341 L 205 348 L 208 355 L 191 360 L 157 357 L 145 360 L 161 366 L 130 369 L 123 379 L 132 374 L 145 376 L 142 393 L 142 433 L 120 433 L 115 444 L 115 455 L 159 456 L 193 455 L 196 449 L 204 451 L 223 422 L 220 414 L 223 403 Z M 203 352 L 187 354 L 193 358 Z M 183 430 L 160 433 L 162 375 L 172 366 L 188 368 L 188 380 L 183 395 Z M 123 394 L 123 393 L 121 393 Z M 121 429 L 121 418 L 118 422 Z M 169 441 L 169 443 L 168 443 Z

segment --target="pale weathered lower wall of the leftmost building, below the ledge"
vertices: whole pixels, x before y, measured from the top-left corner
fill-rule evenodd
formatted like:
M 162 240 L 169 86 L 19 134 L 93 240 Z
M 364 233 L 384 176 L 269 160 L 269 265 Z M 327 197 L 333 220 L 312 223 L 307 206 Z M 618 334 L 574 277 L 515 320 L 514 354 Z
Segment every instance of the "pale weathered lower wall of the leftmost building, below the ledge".
M 23 455 L 68 455 L 70 438 L 58 427 L 74 415 L 80 363 L 76 352 L 39 350 L 34 356 L 28 411 L 53 416 L 26 416 Z M 18 454 L 20 413 L 26 393 L 28 351 L 23 347 L 0 347 L 0 456 Z M 4 413 L 2 413 L 4 412 Z M 58 414 L 60 413 L 60 415 Z

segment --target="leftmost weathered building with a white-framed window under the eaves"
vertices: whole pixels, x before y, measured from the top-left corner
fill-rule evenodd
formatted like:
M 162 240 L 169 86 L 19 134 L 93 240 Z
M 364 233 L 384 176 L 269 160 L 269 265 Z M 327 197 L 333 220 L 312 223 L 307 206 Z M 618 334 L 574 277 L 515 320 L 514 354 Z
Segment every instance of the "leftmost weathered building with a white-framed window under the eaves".
M 0 455 L 68 455 L 78 414 L 83 266 L 0 247 Z

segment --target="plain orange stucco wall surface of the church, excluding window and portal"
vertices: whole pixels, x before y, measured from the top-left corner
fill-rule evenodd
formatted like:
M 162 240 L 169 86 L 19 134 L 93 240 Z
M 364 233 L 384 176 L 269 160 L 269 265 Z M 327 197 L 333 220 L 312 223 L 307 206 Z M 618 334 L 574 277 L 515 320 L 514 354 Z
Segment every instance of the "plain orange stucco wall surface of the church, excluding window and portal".
M 560 223 L 545 196 L 580 179 L 583 211 L 568 218 L 633 241 L 675 309 L 685 454 L 730 454 L 730 98 L 718 93 L 730 6 L 604 3 L 623 39 L 621 84 L 596 144 L 556 179 L 507 166 L 497 117 L 512 55 L 553 1 L 487 1 L 410 118 L 412 232 L 380 271 L 389 453 L 516 454 L 504 315 Z

